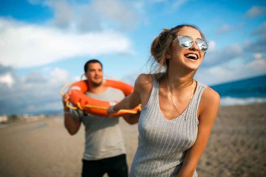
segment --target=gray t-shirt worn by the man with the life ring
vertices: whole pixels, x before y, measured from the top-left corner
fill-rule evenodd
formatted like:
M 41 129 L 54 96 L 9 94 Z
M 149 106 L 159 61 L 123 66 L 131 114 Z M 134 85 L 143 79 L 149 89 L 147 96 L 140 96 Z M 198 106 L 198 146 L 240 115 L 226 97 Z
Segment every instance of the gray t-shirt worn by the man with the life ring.
M 111 105 L 125 97 L 122 91 L 111 87 L 102 94 L 85 94 L 94 99 L 109 101 Z M 119 117 L 100 117 L 80 110 L 74 110 L 72 117 L 80 119 L 85 125 L 84 160 L 100 160 L 126 153 L 118 124 Z

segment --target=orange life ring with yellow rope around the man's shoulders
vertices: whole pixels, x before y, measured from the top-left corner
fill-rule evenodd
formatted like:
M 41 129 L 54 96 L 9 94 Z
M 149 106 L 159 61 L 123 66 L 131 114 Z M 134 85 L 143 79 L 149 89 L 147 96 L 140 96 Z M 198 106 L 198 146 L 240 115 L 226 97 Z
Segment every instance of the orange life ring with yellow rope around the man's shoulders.
M 121 81 L 113 81 L 106 79 L 103 83 L 104 86 L 107 87 L 113 87 L 116 89 L 119 89 L 123 91 L 125 96 L 128 96 L 132 93 L 134 87 L 123 83 Z M 71 95 L 69 101 L 74 105 L 77 106 L 78 109 L 82 110 L 83 112 L 94 114 L 98 116 L 103 117 L 119 117 L 119 116 L 126 116 L 129 114 L 136 114 L 138 111 L 141 110 L 141 104 L 134 109 L 121 109 L 118 113 L 111 115 L 107 114 L 107 109 L 110 106 L 110 103 L 108 101 L 102 101 L 93 99 L 84 93 L 89 89 L 89 86 L 87 84 L 87 80 L 84 81 L 78 81 L 74 83 L 72 86 L 70 86 L 69 90 L 71 90 Z M 117 102 L 118 103 L 118 102 Z

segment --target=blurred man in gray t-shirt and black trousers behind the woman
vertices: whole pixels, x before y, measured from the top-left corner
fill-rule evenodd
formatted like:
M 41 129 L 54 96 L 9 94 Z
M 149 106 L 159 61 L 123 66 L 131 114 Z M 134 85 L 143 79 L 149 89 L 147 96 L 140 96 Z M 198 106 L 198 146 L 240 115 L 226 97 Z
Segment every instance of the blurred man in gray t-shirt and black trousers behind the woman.
M 87 96 L 94 99 L 116 102 L 124 98 L 122 91 L 103 85 L 102 64 L 98 60 L 89 60 L 84 66 L 89 90 Z M 85 151 L 83 154 L 82 176 L 100 177 L 108 173 L 109 177 L 127 177 L 125 147 L 119 127 L 119 117 L 99 117 L 80 110 L 70 112 L 66 106 L 71 91 L 64 94 L 64 124 L 70 135 L 85 125 Z M 138 114 L 124 117 L 126 122 L 138 122 Z

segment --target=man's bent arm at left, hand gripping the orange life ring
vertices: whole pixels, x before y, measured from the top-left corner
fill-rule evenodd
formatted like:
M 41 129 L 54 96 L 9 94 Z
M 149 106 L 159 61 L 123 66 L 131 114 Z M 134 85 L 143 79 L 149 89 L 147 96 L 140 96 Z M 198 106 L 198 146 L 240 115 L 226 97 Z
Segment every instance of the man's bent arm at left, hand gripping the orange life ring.
M 64 105 L 64 125 L 70 135 L 75 135 L 80 129 L 80 120 L 73 119 L 69 108 L 67 107 L 67 101 L 69 100 L 69 96 L 71 91 L 64 94 L 62 98 L 62 102 Z

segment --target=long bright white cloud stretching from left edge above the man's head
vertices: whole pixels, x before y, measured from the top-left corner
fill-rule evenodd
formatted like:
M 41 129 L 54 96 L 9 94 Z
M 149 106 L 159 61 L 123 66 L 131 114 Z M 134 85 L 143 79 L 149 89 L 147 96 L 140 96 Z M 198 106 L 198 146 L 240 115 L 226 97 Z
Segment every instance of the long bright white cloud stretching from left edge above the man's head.
M 62 32 L 0 18 L 0 64 L 32 67 L 77 55 L 130 53 L 130 41 L 115 32 Z

